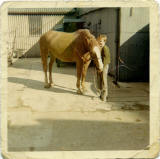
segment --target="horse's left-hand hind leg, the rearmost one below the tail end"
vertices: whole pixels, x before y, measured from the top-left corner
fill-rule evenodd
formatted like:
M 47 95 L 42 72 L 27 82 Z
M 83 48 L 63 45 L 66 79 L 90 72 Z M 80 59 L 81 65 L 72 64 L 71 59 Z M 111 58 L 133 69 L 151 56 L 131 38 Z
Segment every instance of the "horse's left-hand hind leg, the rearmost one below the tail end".
M 43 65 L 43 71 L 45 75 L 45 84 L 44 88 L 49 88 L 50 84 L 48 83 L 48 77 L 47 77 L 47 60 L 48 60 L 48 49 L 40 48 L 41 51 L 41 60 Z

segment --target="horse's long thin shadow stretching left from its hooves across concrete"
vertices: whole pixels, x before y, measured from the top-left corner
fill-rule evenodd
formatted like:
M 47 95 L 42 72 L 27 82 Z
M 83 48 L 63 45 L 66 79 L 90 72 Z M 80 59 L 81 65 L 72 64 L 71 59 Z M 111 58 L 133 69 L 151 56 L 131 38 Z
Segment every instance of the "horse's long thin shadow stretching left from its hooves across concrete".
M 79 95 L 79 94 L 77 94 L 76 89 L 67 88 L 65 86 L 60 86 L 60 85 L 56 85 L 56 84 L 49 89 L 44 88 L 43 87 L 44 82 L 33 80 L 33 79 L 8 77 L 8 82 L 22 84 L 28 88 L 37 89 L 37 90 L 43 90 L 43 91 L 49 91 L 49 92 L 55 92 L 55 93 L 70 93 L 70 94 L 74 94 L 74 95 Z M 84 96 L 88 96 L 91 98 L 94 97 L 94 96 L 87 95 L 87 94 L 84 94 Z

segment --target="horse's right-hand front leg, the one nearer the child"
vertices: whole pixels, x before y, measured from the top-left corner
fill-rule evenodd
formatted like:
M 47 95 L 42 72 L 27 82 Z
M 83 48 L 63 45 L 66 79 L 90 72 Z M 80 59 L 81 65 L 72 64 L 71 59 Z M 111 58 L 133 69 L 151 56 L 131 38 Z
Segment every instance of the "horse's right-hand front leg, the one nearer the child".
M 91 63 L 91 60 L 87 61 L 86 63 L 83 64 L 83 69 L 82 69 L 82 91 L 83 92 L 86 92 L 87 89 L 85 87 L 85 79 L 86 79 L 86 73 L 87 73 L 87 70 L 88 70 L 88 66 L 89 64 Z

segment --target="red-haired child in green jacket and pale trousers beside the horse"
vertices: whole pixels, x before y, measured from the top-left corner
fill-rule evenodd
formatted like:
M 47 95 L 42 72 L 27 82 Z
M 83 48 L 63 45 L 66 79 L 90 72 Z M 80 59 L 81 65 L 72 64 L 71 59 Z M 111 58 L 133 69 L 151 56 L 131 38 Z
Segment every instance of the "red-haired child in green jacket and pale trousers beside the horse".
M 106 101 L 108 98 L 108 69 L 110 64 L 110 50 L 109 47 L 106 45 L 107 36 L 100 34 L 97 37 L 97 42 L 100 46 L 101 50 L 101 58 L 103 62 L 103 71 L 97 72 L 97 85 L 100 92 L 100 98 L 103 101 Z

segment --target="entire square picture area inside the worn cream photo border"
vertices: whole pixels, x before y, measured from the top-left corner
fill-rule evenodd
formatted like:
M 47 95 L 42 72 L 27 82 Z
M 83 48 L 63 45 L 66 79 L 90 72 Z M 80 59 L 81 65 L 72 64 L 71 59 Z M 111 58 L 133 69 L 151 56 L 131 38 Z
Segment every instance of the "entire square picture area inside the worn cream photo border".
M 148 7 L 8 7 L 7 149 L 149 145 Z

